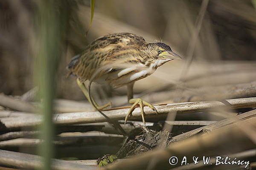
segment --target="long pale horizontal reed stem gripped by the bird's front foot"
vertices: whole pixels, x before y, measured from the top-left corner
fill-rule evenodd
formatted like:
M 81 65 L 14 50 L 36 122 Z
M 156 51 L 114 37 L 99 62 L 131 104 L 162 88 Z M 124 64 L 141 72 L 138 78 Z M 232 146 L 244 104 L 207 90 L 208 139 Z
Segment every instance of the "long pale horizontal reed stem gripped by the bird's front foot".
M 150 116 L 167 115 L 168 113 L 192 113 L 192 112 L 202 112 L 210 109 L 219 109 L 221 107 L 230 109 L 236 108 L 250 108 L 256 107 L 256 97 L 242 98 L 242 99 L 227 99 L 227 102 L 231 106 L 227 106 L 222 102 L 218 101 L 208 101 L 208 102 L 185 102 L 185 103 L 172 103 L 169 105 L 159 105 L 155 106 L 157 108 L 158 114 L 152 111 L 150 108 L 145 107 L 145 118 Z M 119 109 L 112 111 L 103 111 L 109 119 L 113 120 L 123 120 L 128 112 L 128 109 Z M 136 108 L 129 119 L 140 118 L 140 108 Z M 92 112 L 76 112 L 76 113 L 58 113 L 53 116 L 53 121 L 58 125 L 66 124 L 78 124 L 78 123 L 94 123 L 94 122 L 105 122 L 106 119 L 98 111 Z M 12 118 L 2 118 L 0 119 L 2 124 L 0 125 L 0 130 L 6 130 L 10 128 L 20 128 L 35 126 L 41 124 L 42 116 L 25 116 L 25 117 L 12 117 Z

